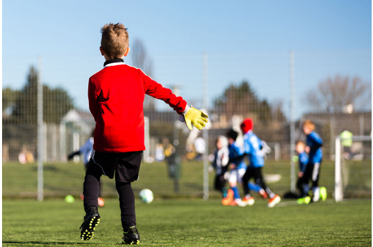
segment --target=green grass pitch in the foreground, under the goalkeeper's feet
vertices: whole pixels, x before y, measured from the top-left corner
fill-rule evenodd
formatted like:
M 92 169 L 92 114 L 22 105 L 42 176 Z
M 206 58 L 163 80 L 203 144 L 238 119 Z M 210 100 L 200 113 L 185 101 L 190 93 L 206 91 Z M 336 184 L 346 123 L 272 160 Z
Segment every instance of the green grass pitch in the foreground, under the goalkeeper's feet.
M 79 239 L 83 204 L 76 200 L 3 200 L 3 246 L 117 246 L 118 200 L 106 200 L 94 239 Z M 372 201 L 292 201 L 269 209 L 224 207 L 218 200 L 136 202 L 140 246 L 371 246 Z

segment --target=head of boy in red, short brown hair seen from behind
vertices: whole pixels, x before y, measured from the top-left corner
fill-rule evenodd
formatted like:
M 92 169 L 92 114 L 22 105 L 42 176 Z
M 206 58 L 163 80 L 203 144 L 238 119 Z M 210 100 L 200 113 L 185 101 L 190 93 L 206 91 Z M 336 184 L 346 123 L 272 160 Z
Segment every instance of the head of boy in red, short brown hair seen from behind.
M 110 23 L 101 28 L 101 47 L 109 58 L 120 58 L 127 50 L 128 32 L 122 23 Z

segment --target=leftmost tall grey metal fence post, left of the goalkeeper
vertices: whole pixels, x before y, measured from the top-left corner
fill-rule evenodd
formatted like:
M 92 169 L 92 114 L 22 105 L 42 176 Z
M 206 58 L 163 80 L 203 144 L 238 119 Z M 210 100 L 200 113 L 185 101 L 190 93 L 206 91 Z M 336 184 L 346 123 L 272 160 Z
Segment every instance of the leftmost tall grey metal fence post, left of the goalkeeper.
M 38 201 L 43 199 L 42 57 L 38 59 Z

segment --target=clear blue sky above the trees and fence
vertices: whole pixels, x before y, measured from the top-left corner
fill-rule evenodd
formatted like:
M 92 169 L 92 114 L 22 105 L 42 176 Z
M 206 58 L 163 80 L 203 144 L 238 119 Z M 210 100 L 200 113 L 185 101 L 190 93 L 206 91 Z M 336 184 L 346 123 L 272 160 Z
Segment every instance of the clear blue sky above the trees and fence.
M 43 81 L 63 86 L 88 109 L 90 75 L 105 23 L 129 27 L 153 60 L 154 78 L 202 97 L 202 53 L 209 61 L 209 100 L 248 80 L 259 97 L 282 100 L 288 113 L 289 50 L 296 54 L 296 113 L 315 84 L 337 73 L 371 82 L 371 1 L 3 1 L 3 88 L 21 89 L 43 59 Z M 125 62 L 131 64 L 131 59 Z M 157 104 L 164 108 L 164 104 Z

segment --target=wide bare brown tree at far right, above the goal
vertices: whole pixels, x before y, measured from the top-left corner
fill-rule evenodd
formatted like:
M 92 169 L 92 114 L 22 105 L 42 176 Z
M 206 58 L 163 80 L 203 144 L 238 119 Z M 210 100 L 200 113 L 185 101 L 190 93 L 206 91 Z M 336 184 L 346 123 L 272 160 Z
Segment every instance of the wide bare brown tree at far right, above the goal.
M 354 110 L 366 110 L 372 104 L 372 84 L 359 77 L 336 75 L 322 80 L 305 96 L 305 103 L 318 112 L 341 113 L 349 104 Z

